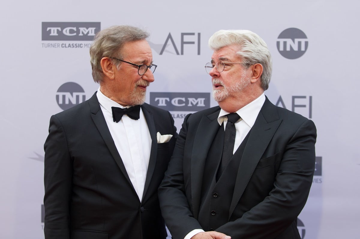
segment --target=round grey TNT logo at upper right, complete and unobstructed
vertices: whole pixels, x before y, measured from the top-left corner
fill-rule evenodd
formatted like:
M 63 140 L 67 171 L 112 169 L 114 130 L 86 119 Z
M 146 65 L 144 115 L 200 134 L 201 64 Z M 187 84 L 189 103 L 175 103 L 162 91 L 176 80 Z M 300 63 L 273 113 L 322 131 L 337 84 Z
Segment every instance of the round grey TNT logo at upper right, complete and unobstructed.
M 287 59 L 297 59 L 305 54 L 309 42 L 303 31 L 288 28 L 280 33 L 276 46 L 279 53 Z

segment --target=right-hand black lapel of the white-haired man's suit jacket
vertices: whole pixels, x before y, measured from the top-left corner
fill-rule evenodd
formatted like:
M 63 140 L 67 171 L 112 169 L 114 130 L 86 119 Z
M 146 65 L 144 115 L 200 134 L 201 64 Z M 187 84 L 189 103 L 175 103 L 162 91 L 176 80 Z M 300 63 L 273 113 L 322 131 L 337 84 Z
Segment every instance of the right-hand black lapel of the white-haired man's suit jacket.
M 276 106 L 266 98 L 253 125 L 245 146 L 235 182 L 229 219 L 242 196 L 261 156 L 269 145 L 282 119 L 279 119 Z

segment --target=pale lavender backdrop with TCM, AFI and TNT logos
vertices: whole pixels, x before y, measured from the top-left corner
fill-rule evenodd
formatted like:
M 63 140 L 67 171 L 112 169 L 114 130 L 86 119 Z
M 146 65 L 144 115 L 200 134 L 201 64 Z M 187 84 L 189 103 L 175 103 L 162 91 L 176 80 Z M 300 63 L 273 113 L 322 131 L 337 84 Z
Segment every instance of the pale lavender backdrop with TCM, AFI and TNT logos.
M 151 33 L 158 68 L 147 102 L 169 110 L 178 131 L 186 114 L 217 105 L 204 69 L 208 38 L 219 29 L 260 35 L 273 56 L 266 95 L 318 129 L 301 238 L 359 238 L 359 7 L 353 0 L 1 3 L 0 238 L 44 238 L 50 116 L 98 89 L 89 47 L 96 32 L 118 24 Z

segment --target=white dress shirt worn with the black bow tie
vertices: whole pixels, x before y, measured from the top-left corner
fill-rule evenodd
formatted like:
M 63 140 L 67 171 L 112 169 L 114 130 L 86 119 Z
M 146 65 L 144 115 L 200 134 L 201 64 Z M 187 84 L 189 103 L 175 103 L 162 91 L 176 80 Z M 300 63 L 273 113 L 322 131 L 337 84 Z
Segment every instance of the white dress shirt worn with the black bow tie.
M 133 120 L 123 115 L 116 123 L 113 121 L 111 107 L 128 108 L 130 106 L 123 107 L 109 99 L 100 91 L 100 88 L 96 96 L 117 151 L 141 202 L 151 149 L 151 137 L 144 113 L 140 108 L 140 119 Z

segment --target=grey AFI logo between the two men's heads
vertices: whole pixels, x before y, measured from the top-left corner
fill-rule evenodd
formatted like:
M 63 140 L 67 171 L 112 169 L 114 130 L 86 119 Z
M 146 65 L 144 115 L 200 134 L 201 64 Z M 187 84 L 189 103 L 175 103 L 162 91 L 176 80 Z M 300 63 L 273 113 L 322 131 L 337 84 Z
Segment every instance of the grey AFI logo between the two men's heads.
M 174 41 L 174 37 L 177 41 Z M 198 55 L 200 55 L 200 39 L 201 34 L 200 32 L 181 32 L 180 36 L 172 36 L 171 33 L 166 37 L 166 40 L 163 44 L 155 44 L 152 42 L 149 42 L 149 45 L 154 51 L 156 51 L 159 55 L 162 55 L 164 52 L 172 53 L 175 51 L 176 55 L 184 55 L 184 48 L 185 45 L 195 45 L 195 47 L 191 47 L 191 49 L 188 49 L 188 51 L 192 50 L 197 52 Z M 179 39 L 180 37 L 180 39 Z M 179 43 L 176 45 L 175 42 L 179 42 L 180 40 L 180 47 Z M 180 49 L 180 52 L 179 52 Z

